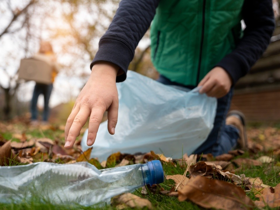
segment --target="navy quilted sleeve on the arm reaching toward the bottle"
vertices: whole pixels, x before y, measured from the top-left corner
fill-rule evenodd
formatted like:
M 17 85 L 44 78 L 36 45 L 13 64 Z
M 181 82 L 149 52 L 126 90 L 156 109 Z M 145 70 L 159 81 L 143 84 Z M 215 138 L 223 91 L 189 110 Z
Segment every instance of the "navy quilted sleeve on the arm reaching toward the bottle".
M 99 61 L 111 62 L 123 71 L 117 82 L 126 78 L 134 51 L 155 16 L 159 0 L 122 0 L 115 17 L 99 41 L 99 49 L 92 66 Z

